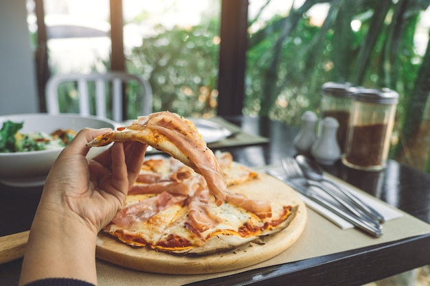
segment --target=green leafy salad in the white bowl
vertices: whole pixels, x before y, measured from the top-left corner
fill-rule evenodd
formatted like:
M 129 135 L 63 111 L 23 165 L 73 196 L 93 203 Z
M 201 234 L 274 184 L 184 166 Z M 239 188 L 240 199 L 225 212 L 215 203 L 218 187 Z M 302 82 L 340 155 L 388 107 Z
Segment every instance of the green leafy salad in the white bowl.
M 27 152 L 62 148 L 76 134 L 71 130 L 56 130 L 52 134 L 45 132 L 19 132 L 23 122 L 5 121 L 0 130 L 0 153 Z

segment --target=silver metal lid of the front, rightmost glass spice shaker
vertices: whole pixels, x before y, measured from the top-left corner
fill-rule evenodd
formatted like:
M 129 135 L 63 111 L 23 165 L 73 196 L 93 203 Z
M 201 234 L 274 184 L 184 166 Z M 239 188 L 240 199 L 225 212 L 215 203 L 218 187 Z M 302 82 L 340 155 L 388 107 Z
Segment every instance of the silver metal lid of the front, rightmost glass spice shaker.
M 357 88 L 352 93 L 352 98 L 359 102 L 373 104 L 396 104 L 398 102 L 398 93 L 389 88 Z

